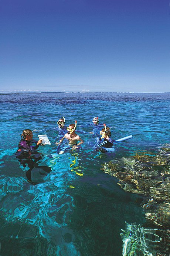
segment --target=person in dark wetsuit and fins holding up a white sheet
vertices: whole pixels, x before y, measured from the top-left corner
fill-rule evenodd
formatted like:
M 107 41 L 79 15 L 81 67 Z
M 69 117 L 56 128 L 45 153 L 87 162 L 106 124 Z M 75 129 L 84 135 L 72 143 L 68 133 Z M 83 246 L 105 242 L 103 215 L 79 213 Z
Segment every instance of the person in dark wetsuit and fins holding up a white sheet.
M 42 143 L 42 140 L 35 141 L 33 140 L 33 132 L 30 129 L 25 129 L 21 134 L 21 140 L 18 143 L 18 150 L 16 152 L 16 157 L 19 159 L 23 167 L 26 167 L 26 164 L 30 168 L 26 172 L 26 177 L 29 182 L 31 180 L 31 171 L 34 167 L 39 167 L 46 173 L 51 171 L 51 168 L 48 166 L 38 166 L 37 161 L 41 160 L 41 154 L 37 151 L 39 145 Z M 40 173 L 42 174 L 42 173 Z M 44 174 L 43 174 L 44 175 Z

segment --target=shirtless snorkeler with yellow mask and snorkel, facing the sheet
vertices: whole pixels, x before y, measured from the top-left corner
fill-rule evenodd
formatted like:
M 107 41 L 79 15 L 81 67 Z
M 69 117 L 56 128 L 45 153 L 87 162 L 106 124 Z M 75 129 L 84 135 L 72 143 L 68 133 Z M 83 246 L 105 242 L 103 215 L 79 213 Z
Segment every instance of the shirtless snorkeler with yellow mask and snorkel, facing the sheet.
M 73 145 L 72 149 L 78 148 L 79 145 L 83 144 L 84 141 L 75 133 L 76 130 L 77 121 L 75 121 L 75 124 L 70 124 L 69 127 L 67 127 L 67 133 L 64 135 L 64 137 L 59 140 L 59 142 L 56 142 L 57 145 L 61 144 L 64 139 L 69 140 L 69 145 Z M 77 143 L 80 141 L 79 143 Z M 59 151 L 59 154 L 63 154 L 64 149 Z

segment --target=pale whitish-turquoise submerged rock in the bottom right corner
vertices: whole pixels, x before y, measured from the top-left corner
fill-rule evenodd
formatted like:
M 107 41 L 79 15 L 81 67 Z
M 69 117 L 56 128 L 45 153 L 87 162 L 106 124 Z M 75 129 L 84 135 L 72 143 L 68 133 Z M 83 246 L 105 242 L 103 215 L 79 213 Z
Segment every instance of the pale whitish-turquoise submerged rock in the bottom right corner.
M 147 229 L 125 222 L 125 230 L 122 230 L 120 236 L 123 241 L 123 256 L 169 256 L 169 229 Z

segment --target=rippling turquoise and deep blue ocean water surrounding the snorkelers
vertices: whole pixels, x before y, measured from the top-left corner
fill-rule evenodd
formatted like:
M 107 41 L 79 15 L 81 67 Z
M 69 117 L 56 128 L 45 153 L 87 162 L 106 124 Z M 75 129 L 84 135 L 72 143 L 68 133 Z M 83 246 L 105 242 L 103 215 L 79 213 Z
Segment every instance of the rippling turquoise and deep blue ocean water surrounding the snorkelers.
M 1 93 L 0 109 L 0 255 L 122 255 L 126 223 L 146 224 L 143 198 L 122 190 L 101 166 L 169 143 L 170 93 Z M 84 144 L 59 155 L 62 116 L 67 126 L 77 120 Z M 133 138 L 115 143 L 114 153 L 95 151 L 94 116 L 114 140 Z M 27 182 L 28 167 L 15 155 L 23 129 L 51 142 L 38 149 L 40 165 L 52 171 L 40 175 L 34 168 L 37 185 Z

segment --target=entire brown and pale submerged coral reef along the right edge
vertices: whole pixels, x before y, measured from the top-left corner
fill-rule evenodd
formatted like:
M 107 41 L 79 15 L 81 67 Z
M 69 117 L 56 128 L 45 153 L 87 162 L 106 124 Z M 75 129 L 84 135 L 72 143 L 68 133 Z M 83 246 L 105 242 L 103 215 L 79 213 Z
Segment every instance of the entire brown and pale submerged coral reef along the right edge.
M 170 256 L 170 147 L 112 160 L 102 170 L 118 178 L 127 192 L 143 195 L 149 228 L 126 223 L 121 233 L 123 256 Z M 150 228 L 150 224 L 158 227 Z M 161 229 L 159 229 L 161 227 Z

